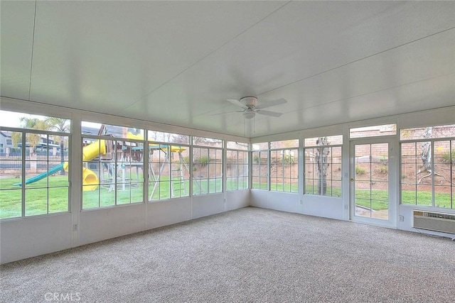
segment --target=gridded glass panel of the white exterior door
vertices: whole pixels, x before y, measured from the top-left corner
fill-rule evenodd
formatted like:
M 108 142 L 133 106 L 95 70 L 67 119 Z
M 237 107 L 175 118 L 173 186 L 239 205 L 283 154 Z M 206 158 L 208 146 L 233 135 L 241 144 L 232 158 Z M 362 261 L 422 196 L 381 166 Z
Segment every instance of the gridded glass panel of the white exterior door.
M 388 143 L 355 145 L 355 216 L 389 219 L 388 150 Z

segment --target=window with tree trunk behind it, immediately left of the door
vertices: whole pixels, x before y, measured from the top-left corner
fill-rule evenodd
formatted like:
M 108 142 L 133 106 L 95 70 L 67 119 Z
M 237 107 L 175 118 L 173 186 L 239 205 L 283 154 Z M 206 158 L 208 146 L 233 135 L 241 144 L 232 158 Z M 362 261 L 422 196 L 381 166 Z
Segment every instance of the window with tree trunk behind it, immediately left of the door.
M 305 194 L 341 197 L 342 143 L 341 135 L 304 140 Z

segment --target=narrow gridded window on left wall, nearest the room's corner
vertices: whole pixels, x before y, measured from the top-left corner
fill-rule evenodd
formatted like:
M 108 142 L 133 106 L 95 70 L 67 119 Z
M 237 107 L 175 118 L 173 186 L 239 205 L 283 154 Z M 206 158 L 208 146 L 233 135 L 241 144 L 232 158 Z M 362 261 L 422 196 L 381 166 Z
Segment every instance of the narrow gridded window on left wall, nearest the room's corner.
M 248 188 L 248 152 L 226 151 L 226 190 Z

